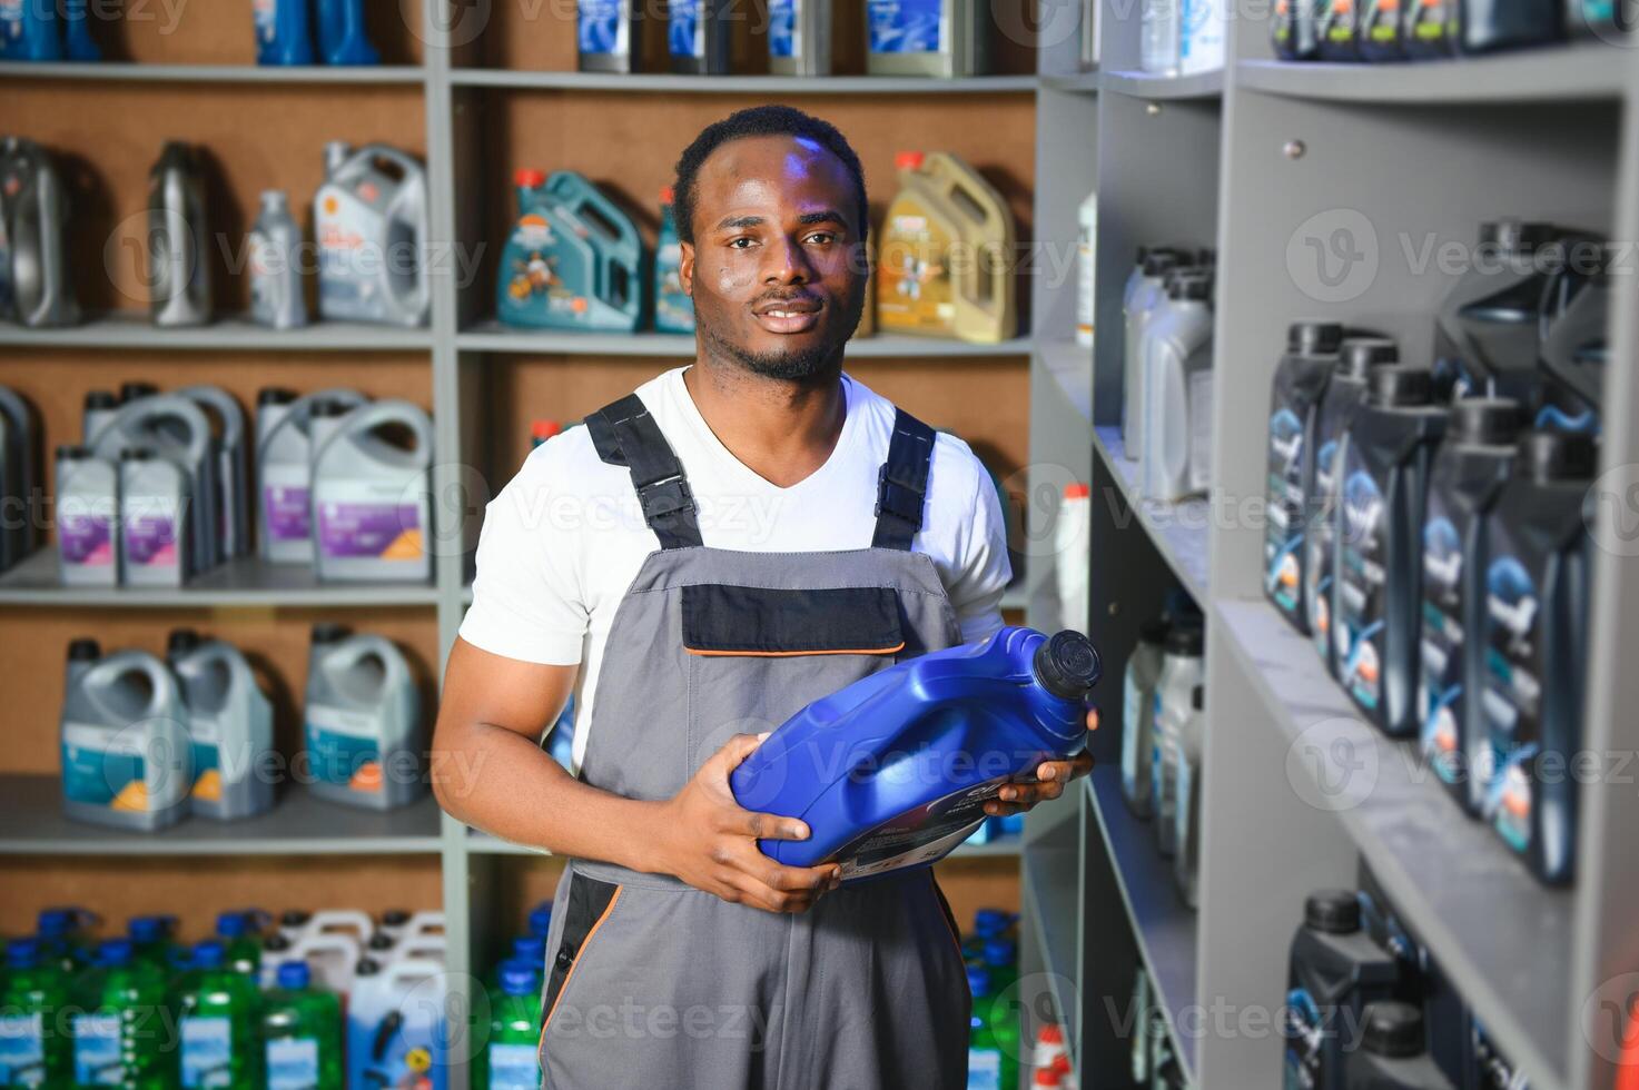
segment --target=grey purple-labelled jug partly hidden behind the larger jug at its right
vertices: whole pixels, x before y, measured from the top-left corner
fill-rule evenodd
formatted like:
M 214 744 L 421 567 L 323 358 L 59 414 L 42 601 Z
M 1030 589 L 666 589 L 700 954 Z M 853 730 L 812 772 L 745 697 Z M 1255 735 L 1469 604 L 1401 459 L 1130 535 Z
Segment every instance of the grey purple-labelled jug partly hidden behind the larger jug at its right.
M 311 564 L 313 408 L 364 405 L 357 390 L 262 390 L 256 398 L 256 518 L 261 556 L 272 564 Z

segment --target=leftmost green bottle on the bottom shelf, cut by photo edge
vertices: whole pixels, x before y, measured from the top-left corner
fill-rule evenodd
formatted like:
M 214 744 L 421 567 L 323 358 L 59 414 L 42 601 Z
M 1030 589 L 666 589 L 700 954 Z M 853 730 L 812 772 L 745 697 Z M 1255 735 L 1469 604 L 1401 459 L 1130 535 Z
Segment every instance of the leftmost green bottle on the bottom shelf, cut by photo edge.
M 69 1005 L 69 975 L 38 939 L 11 939 L 0 983 L 0 1087 L 67 1090 L 74 1085 L 74 1038 L 59 1011 Z

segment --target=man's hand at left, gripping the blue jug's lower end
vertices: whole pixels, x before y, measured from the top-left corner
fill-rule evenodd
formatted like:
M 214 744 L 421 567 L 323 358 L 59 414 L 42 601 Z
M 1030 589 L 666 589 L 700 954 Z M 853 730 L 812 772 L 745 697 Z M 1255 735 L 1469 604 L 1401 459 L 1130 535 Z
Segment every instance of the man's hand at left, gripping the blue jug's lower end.
M 736 734 L 700 765 L 683 790 L 661 805 L 656 833 L 662 841 L 662 869 L 734 905 L 800 913 L 842 883 L 841 867 L 834 862 L 787 867 L 757 847 L 759 839 L 808 839 L 808 826 L 797 818 L 754 813 L 734 802 L 728 774 L 764 738 Z

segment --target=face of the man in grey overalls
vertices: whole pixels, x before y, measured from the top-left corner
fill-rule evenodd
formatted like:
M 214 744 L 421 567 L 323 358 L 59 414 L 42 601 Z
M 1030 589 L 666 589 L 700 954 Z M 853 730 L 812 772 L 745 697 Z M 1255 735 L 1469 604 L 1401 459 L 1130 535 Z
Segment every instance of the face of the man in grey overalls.
M 847 167 L 813 141 L 747 136 L 713 151 L 680 270 L 706 347 L 785 380 L 839 359 L 865 303 L 857 218 Z

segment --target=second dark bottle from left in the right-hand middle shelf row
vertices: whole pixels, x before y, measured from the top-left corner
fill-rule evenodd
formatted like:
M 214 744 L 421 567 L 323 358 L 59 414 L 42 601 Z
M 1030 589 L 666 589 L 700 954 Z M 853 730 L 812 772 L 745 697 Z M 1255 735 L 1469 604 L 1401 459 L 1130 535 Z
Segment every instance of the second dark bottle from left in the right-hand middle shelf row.
M 1400 349 L 1388 338 L 1349 338 L 1337 354 L 1337 367 L 1321 395 L 1314 415 L 1314 500 L 1303 531 L 1303 605 L 1308 610 L 1310 643 L 1337 675 L 1337 644 L 1331 638 L 1333 543 L 1337 538 L 1337 452 L 1342 436 L 1365 403 L 1365 380 L 1372 367 L 1400 361 Z

